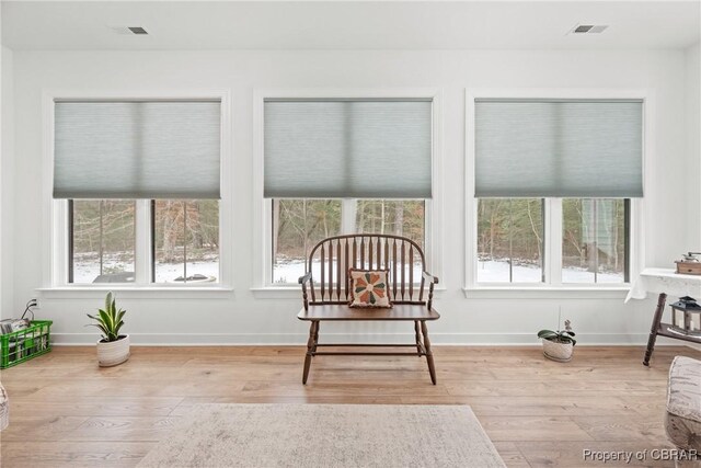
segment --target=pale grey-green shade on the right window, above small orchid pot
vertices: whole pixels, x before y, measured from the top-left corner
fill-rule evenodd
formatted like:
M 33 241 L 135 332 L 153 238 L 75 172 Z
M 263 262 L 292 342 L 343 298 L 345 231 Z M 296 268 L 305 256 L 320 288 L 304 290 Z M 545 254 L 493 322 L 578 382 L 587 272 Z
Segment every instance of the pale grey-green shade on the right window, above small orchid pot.
M 476 197 L 641 197 L 642 153 L 642 100 L 475 100 Z

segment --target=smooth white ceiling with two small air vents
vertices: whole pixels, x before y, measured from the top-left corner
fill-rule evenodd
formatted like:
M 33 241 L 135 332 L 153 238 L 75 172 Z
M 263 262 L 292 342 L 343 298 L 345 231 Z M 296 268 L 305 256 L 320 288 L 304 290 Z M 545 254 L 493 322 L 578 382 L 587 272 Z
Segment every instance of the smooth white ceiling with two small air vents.
M 681 48 L 692 1 L 2 1 L 13 49 Z M 575 24 L 602 34 L 567 35 Z M 120 35 L 143 26 L 150 35 Z

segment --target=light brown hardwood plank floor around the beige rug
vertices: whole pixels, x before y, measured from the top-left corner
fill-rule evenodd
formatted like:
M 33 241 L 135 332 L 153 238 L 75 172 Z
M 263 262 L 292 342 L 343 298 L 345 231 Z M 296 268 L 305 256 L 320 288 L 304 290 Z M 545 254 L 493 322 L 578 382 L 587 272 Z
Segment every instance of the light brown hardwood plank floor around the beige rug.
M 91 347 L 2 370 L 10 426 L 3 467 L 135 466 L 203 402 L 469 404 L 509 467 L 674 466 L 586 461 L 583 450 L 670 447 L 667 372 L 689 347 L 577 346 L 567 364 L 538 347 L 436 346 L 438 385 L 416 357 L 318 356 L 301 385 L 302 346 L 136 347 L 99 368 Z M 635 465 L 637 463 L 637 465 Z

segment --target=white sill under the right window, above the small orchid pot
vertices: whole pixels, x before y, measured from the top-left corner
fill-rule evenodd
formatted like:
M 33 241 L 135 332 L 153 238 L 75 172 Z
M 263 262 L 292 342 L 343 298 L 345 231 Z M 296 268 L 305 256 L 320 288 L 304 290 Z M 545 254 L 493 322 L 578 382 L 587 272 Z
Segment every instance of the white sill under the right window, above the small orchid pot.
M 625 299 L 630 285 L 611 287 L 508 287 L 473 286 L 463 288 L 468 299 Z

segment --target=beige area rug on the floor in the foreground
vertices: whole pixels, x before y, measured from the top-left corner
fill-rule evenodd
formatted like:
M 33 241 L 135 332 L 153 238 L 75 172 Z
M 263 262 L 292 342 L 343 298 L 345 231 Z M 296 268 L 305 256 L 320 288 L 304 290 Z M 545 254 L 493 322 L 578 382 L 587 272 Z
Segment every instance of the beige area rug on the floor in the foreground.
M 200 404 L 139 467 L 504 467 L 467 406 Z

